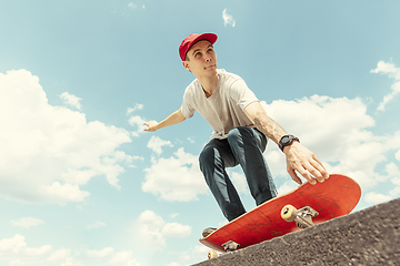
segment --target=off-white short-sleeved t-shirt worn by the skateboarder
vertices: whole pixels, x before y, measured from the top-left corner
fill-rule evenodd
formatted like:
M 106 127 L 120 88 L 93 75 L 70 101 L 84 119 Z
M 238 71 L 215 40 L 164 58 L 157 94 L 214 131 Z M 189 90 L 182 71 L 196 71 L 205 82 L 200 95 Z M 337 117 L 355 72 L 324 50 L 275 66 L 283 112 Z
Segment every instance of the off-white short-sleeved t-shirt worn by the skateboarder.
M 184 117 L 192 117 L 198 111 L 212 126 L 211 139 L 226 139 L 228 132 L 237 126 L 254 127 L 244 113 L 244 108 L 259 101 L 239 75 L 224 70 L 217 70 L 218 83 L 216 92 L 207 98 L 196 79 L 186 89 L 181 112 Z

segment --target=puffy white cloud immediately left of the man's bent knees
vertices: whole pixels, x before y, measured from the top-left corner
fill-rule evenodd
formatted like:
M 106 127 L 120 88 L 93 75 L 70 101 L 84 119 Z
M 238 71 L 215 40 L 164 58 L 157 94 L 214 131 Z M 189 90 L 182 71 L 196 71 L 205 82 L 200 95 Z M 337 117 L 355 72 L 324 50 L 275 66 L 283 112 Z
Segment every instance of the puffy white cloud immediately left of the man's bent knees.
M 153 158 L 144 173 L 142 190 L 166 201 L 197 201 L 198 195 L 208 192 L 198 156 L 186 153 L 182 147 L 169 158 Z

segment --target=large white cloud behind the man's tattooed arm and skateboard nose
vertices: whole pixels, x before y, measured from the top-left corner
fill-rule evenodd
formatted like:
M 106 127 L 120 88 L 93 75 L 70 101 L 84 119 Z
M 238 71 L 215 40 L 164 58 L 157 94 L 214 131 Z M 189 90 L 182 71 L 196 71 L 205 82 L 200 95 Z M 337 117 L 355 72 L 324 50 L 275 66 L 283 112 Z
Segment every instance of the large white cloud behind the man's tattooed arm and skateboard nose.
M 262 104 L 273 120 L 317 154 L 329 173 L 351 176 L 364 192 L 374 190 L 397 173 L 393 164 L 388 162 L 388 152 L 400 147 L 399 133 L 374 135 L 370 131 L 374 120 L 367 114 L 367 104 L 360 99 L 313 95 Z M 289 177 L 284 155 L 272 141 L 264 155 L 273 176 Z M 387 162 L 386 174 L 377 168 L 383 162 Z M 282 194 L 292 188 L 296 188 L 294 182 L 284 183 L 279 192 Z M 366 201 L 379 202 L 372 198 L 381 198 L 381 195 L 370 194 Z

